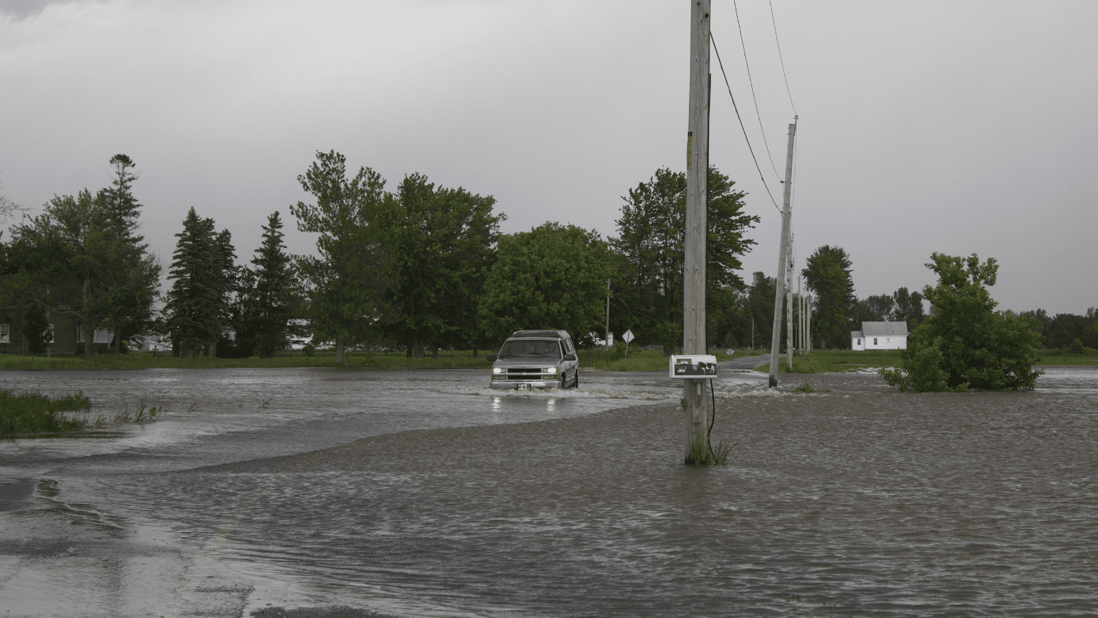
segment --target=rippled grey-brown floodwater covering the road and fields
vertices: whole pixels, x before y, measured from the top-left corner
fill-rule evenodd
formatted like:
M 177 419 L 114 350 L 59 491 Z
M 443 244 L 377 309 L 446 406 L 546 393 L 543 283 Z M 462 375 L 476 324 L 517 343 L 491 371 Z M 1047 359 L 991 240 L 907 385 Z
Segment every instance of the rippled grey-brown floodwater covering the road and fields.
M 0 373 L 103 412 L 166 411 L 0 442 L 0 607 L 1098 614 L 1098 367 L 1016 394 L 900 394 L 873 374 L 774 391 L 730 374 L 714 441 L 733 459 L 706 470 L 680 463 L 675 380 L 584 373 L 578 390 L 497 394 L 484 376 Z M 806 378 L 821 393 L 792 393 Z

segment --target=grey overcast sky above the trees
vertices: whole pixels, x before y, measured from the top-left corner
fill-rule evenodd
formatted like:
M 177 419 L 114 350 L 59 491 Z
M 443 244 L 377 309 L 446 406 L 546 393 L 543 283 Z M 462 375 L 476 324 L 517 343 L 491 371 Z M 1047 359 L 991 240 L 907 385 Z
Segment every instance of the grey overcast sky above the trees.
M 793 109 L 766 1 L 740 0 L 777 172 Z M 853 260 L 859 296 L 921 288 L 931 252 L 1000 263 L 1002 308 L 1098 306 L 1098 2 L 774 0 L 799 113 L 798 263 Z M 616 234 L 620 196 L 685 166 L 688 0 L 0 0 L 0 195 L 41 208 L 134 158 L 167 264 L 187 209 L 242 262 L 316 151 L 390 188 L 419 172 L 497 199 L 504 232 Z M 765 181 L 777 174 L 733 4 L 713 33 Z M 744 258 L 773 275 L 780 218 L 713 56 L 710 161 L 762 217 Z

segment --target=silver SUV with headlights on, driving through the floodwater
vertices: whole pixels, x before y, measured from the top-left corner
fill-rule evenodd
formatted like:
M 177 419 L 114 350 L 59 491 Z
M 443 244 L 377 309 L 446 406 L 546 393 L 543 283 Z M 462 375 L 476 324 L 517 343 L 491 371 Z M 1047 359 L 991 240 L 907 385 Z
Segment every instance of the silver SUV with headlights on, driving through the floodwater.
M 580 385 L 580 361 L 565 331 L 515 331 L 492 361 L 492 388 L 568 388 Z

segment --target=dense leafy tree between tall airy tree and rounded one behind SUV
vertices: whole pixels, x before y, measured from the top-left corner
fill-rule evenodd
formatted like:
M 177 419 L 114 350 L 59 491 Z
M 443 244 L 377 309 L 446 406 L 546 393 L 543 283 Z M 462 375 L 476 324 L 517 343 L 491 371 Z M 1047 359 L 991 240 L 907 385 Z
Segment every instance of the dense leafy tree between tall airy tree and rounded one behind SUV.
M 385 330 L 422 357 L 424 346 L 477 336 L 477 299 L 494 260 L 502 214 L 495 198 L 436 189 L 421 174 L 406 176 L 384 216 L 384 254 L 392 280 Z

